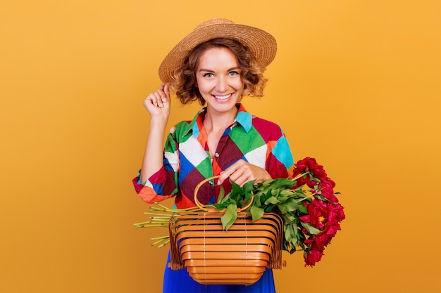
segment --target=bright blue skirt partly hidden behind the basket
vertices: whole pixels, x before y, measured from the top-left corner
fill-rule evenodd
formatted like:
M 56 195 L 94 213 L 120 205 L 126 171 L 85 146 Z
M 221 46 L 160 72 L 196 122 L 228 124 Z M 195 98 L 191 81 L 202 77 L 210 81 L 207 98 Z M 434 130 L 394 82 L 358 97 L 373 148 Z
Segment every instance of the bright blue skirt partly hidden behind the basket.
M 167 263 L 170 262 L 168 252 Z M 267 268 L 261 278 L 253 285 L 201 285 L 183 268 L 173 271 L 166 266 L 164 271 L 163 293 L 275 293 L 273 270 Z

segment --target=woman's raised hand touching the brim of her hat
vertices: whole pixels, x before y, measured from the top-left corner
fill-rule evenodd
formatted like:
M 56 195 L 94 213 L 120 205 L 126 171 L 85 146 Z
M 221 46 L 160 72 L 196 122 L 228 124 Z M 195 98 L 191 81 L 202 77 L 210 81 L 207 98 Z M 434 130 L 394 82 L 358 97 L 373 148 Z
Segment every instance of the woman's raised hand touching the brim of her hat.
M 161 84 L 159 89 L 150 93 L 144 100 L 144 107 L 147 108 L 151 119 L 164 119 L 168 121 L 170 115 L 170 92 L 168 84 Z

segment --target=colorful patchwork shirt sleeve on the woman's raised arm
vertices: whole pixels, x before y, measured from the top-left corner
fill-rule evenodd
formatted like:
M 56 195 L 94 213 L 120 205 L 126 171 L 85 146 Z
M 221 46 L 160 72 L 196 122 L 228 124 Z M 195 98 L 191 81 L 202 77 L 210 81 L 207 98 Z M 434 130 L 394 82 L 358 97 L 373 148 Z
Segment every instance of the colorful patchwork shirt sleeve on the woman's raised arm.
M 179 191 L 178 171 L 180 169 L 180 159 L 175 134 L 176 131 L 173 128 L 167 136 L 163 152 L 163 167 L 145 182 L 141 182 L 141 171 L 132 180 L 135 191 L 144 202 L 160 202 L 177 195 Z

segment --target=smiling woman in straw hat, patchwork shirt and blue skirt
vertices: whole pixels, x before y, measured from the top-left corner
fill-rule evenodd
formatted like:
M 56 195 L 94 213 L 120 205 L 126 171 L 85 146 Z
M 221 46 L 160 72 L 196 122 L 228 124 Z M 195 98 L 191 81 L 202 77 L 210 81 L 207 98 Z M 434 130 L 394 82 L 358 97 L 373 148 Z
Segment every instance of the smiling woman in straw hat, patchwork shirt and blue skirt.
M 144 106 L 151 116 L 147 147 L 137 193 L 153 203 L 175 197 L 178 208 L 193 207 L 195 186 L 202 204 L 216 202 L 219 185 L 225 193 L 231 181 L 286 178 L 292 155 L 280 126 L 251 115 L 239 103 L 243 96 L 263 95 L 263 71 L 275 57 L 275 39 L 268 32 L 230 20 L 203 22 L 168 53 L 159 67 L 163 84 Z M 181 103 L 198 100 L 202 108 L 191 121 L 178 123 L 163 148 L 170 115 L 170 91 Z M 170 256 L 168 261 L 170 261 Z M 166 268 L 163 292 L 275 292 L 267 269 L 254 285 L 200 285 L 186 270 Z

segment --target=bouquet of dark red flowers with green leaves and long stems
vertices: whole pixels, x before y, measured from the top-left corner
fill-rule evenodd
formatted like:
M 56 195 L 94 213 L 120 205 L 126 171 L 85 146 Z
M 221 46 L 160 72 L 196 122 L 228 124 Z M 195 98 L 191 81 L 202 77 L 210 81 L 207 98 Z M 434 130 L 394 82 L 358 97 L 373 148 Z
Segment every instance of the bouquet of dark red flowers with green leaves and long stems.
M 342 205 L 338 202 L 332 181 L 323 166 L 316 159 L 306 157 L 294 164 L 290 178 L 276 178 L 254 183 L 250 181 L 242 187 L 232 183 L 228 195 L 218 196 L 213 206 L 225 210 L 221 217 L 225 230 L 237 219 L 237 207 L 249 204 L 249 212 L 253 221 L 261 219 L 263 213 L 273 211 L 283 219 L 283 250 L 290 254 L 302 250 L 305 266 L 314 266 L 321 260 L 323 251 L 333 239 L 340 223 L 344 220 Z M 211 207 L 213 207 L 211 206 Z M 150 221 L 136 223 L 138 227 L 168 227 L 168 213 L 194 212 L 199 208 L 168 209 L 161 204 L 151 207 Z M 162 214 L 159 214 L 162 213 Z M 166 245 L 168 237 L 155 237 L 152 245 Z

